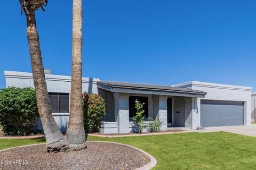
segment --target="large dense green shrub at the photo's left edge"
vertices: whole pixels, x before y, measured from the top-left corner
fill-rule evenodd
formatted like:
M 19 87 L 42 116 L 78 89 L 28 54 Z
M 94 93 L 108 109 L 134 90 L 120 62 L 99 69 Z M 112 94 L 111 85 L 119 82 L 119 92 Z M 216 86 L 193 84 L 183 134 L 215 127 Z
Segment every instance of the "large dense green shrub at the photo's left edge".
M 6 88 L 0 91 L 0 124 L 7 135 L 38 133 L 36 92 L 32 88 Z

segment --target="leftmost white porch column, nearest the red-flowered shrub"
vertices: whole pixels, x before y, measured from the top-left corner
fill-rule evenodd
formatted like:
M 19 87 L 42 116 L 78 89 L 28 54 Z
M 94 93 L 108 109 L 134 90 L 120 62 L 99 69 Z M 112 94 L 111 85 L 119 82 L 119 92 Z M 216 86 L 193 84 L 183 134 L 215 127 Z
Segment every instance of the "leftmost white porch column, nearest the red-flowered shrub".
M 129 133 L 129 94 L 114 93 L 118 133 Z

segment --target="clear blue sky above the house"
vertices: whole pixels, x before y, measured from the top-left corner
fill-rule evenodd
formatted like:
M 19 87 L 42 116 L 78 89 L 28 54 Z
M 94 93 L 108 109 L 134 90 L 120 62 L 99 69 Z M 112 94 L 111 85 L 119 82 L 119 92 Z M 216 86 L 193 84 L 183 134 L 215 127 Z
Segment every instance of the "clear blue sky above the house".
M 31 72 L 19 2 L 0 11 L 4 70 Z M 71 74 L 72 1 L 36 13 L 44 66 Z M 83 1 L 83 77 L 175 84 L 190 80 L 256 89 L 256 1 Z

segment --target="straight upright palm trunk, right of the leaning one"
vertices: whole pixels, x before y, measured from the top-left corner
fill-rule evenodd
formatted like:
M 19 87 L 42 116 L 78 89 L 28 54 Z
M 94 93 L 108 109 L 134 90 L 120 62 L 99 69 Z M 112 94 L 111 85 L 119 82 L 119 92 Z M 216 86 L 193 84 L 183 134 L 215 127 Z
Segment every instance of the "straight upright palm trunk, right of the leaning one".
M 86 148 L 82 112 L 82 0 L 73 0 L 72 73 L 70 112 L 66 137 L 68 148 Z

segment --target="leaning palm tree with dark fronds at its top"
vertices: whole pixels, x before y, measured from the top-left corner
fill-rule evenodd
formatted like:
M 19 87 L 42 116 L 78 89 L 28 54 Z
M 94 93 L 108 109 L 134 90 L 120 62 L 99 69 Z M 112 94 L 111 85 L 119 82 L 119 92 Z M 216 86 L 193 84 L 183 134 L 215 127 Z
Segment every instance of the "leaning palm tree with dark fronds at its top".
M 60 132 L 52 115 L 52 107 L 46 87 L 44 67 L 39 45 L 39 36 L 36 28 L 35 11 L 46 6 L 47 0 L 19 0 L 21 14 L 24 11 L 27 18 L 27 39 L 33 71 L 34 85 L 36 90 L 36 101 L 38 112 L 46 135 L 46 147 L 49 151 L 58 151 L 65 147 L 65 139 Z

